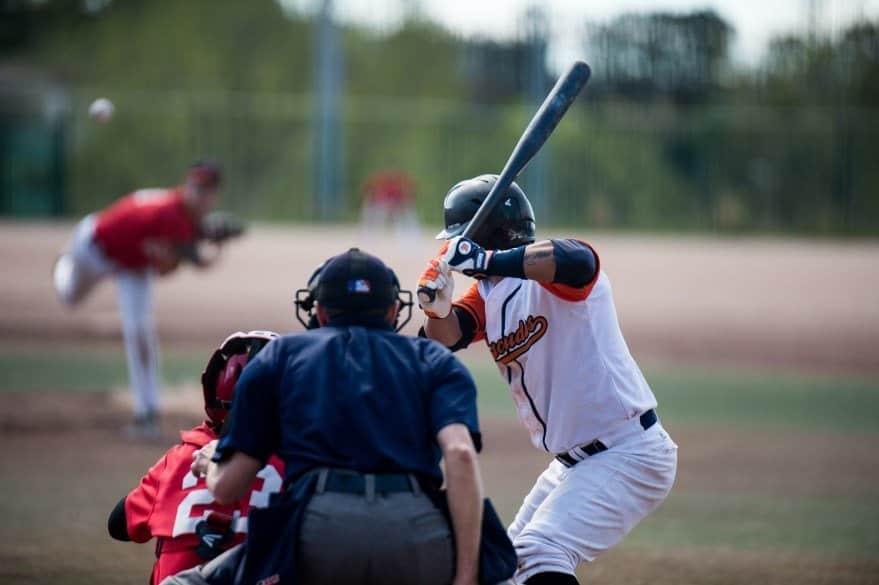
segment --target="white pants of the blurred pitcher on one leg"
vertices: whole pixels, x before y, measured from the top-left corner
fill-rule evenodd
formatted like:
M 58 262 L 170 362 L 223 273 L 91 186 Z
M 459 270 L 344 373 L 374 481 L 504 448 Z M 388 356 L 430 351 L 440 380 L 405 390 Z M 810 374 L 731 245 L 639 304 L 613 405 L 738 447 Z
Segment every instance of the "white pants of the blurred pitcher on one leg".
M 61 302 L 72 307 L 101 280 L 113 276 L 134 414 L 158 412 L 159 341 L 153 316 L 152 273 L 117 268 L 95 243 L 94 235 L 95 216 L 89 215 L 77 224 L 68 249 L 55 264 L 55 291 Z

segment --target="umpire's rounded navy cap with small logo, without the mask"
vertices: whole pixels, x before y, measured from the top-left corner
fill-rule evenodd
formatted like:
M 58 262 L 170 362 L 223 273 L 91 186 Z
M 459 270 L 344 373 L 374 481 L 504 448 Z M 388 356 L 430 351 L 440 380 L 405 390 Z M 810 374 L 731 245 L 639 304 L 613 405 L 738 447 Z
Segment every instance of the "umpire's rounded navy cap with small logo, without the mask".
M 327 260 L 320 271 L 317 302 L 328 309 L 361 312 L 387 309 L 400 292 L 397 275 L 358 248 Z

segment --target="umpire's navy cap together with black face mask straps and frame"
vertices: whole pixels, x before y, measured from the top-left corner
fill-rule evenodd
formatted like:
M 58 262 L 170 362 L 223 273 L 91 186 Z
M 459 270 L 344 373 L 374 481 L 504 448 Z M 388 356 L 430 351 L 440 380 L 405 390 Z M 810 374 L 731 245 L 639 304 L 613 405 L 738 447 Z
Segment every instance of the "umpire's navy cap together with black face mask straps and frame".
M 330 265 L 329 281 L 322 277 Z M 296 320 L 306 329 L 317 329 L 315 302 L 327 308 L 351 312 L 369 311 L 399 305 L 394 330 L 400 331 L 412 319 L 412 291 L 402 290 L 393 270 L 381 260 L 351 248 L 320 264 L 308 279 L 306 288 L 296 291 Z

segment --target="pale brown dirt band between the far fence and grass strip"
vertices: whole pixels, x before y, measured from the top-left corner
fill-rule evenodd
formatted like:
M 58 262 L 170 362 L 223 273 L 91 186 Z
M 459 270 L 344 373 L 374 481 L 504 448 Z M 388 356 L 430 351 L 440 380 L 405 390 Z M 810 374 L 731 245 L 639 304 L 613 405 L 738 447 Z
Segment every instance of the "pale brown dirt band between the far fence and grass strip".
M 77 311 L 54 298 L 49 274 L 71 227 L 0 223 L 0 339 L 119 337 L 110 283 Z M 639 359 L 879 370 L 877 243 L 584 237 L 601 255 Z M 414 285 L 437 247 L 429 237 L 398 241 L 356 226 L 257 227 L 229 245 L 216 268 L 184 268 L 157 284 L 163 343 L 210 345 L 240 328 L 298 329 L 293 291 L 320 261 L 352 245 L 384 258 L 404 286 Z

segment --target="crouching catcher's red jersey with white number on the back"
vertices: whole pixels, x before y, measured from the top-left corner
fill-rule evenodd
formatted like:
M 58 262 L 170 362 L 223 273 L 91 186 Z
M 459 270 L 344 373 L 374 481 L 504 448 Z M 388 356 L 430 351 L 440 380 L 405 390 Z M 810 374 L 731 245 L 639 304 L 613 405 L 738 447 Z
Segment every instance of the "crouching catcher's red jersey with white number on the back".
M 193 454 L 217 438 L 206 424 L 180 433 L 183 442 L 172 447 L 140 480 L 140 485 L 125 498 L 128 536 L 134 542 L 159 538 L 157 559 L 151 583 L 160 583 L 169 575 L 204 563 L 195 554 L 198 547 L 196 525 L 210 513 L 232 518 L 235 532 L 229 547 L 244 541 L 247 512 L 251 506 L 261 508 L 269 495 L 281 490 L 284 463 L 272 457 L 257 474 L 250 494 L 235 504 L 221 506 L 214 502 L 205 479 L 192 475 Z

